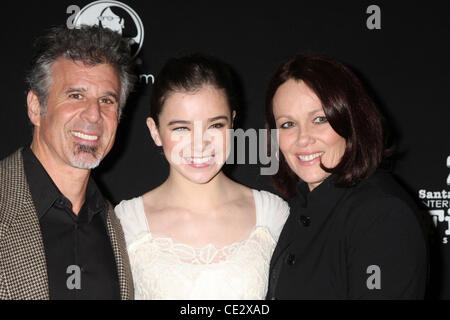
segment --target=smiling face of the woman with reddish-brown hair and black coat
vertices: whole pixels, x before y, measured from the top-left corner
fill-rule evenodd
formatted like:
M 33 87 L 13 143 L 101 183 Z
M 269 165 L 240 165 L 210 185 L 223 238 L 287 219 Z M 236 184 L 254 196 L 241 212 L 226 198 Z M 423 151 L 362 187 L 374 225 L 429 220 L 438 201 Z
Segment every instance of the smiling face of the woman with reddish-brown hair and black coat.
M 330 175 L 320 163 L 335 167 L 345 152 L 345 139 L 333 130 L 321 101 L 303 81 L 290 79 L 278 88 L 273 113 L 289 167 L 314 189 Z

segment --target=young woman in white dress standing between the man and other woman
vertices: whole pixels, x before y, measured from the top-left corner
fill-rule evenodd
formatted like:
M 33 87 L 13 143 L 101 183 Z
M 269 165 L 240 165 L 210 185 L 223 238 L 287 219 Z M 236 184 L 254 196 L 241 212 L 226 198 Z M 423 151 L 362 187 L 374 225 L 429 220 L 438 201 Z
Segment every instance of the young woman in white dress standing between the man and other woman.
M 122 201 L 137 299 L 264 299 L 287 203 L 225 176 L 236 115 L 231 73 L 213 58 L 171 59 L 152 89 L 147 126 L 167 180 Z

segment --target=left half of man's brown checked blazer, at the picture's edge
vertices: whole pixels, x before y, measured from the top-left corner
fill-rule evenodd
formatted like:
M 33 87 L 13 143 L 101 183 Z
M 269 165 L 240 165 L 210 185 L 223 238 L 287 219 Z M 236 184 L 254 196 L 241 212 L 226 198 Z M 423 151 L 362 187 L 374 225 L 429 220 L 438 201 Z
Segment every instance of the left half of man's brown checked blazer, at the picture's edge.
M 49 299 L 44 244 L 21 150 L 3 160 L 2 177 L 4 202 L 0 210 L 5 230 L 0 239 L 0 265 L 9 298 Z

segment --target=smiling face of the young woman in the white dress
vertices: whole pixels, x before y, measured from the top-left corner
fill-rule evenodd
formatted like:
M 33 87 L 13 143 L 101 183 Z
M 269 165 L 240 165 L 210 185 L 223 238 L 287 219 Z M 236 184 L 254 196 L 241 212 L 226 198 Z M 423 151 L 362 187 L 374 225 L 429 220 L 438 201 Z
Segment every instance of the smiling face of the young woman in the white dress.
M 234 118 L 223 90 L 205 85 L 195 92 L 173 92 L 164 102 L 159 127 L 147 119 L 153 140 L 162 146 L 171 172 L 195 183 L 207 183 L 229 154 Z

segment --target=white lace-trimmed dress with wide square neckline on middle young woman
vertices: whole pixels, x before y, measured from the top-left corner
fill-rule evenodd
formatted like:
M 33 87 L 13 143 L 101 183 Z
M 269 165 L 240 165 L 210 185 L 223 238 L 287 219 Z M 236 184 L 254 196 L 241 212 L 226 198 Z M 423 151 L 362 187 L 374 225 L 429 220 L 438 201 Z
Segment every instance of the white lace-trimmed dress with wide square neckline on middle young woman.
M 253 190 L 256 225 L 249 237 L 223 248 L 194 248 L 153 237 L 142 197 L 115 211 L 127 243 L 136 299 L 264 299 L 269 264 L 289 206 L 278 196 Z

